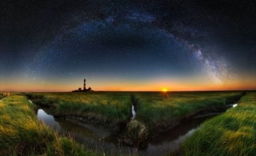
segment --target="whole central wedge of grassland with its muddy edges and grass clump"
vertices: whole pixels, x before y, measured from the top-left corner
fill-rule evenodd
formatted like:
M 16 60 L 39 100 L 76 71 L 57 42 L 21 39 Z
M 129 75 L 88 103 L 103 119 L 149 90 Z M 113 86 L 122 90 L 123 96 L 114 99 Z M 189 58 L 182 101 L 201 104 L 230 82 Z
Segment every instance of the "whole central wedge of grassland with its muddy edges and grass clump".
M 121 132 L 126 144 L 138 146 L 139 142 L 146 144 L 147 137 L 143 136 L 176 127 L 195 113 L 225 111 L 226 104 L 239 100 L 242 92 L 55 92 L 27 96 L 35 104 L 52 107 L 52 115 L 104 125 L 114 133 Z M 136 124 L 128 120 L 132 104 L 137 113 Z M 141 127 L 145 127 L 143 133 L 138 130 Z M 131 135 L 129 130 L 138 133 Z

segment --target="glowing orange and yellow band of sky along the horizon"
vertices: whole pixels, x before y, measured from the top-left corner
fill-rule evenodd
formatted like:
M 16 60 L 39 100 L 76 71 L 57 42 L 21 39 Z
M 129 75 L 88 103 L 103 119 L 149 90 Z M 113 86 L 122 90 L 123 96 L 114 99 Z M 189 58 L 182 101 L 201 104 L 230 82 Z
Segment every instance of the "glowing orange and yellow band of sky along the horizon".
M 16 92 L 69 92 L 83 87 L 83 78 L 47 79 L 46 81 L 31 81 L 23 79 L 6 79 L 0 81 L 0 91 Z M 114 79 L 114 78 L 86 78 L 86 87 L 94 91 L 225 91 L 225 90 L 256 90 L 254 79 L 236 79 L 214 83 L 197 78 L 189 79 Z

